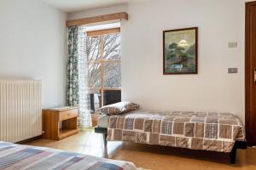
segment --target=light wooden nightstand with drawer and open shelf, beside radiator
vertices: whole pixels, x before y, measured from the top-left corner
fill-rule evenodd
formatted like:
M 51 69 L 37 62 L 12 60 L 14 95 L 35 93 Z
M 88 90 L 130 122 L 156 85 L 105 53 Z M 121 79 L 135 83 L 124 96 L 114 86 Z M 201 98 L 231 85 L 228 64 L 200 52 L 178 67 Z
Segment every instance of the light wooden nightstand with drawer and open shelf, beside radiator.
M 78 108 L 43 110 L 43 138 L 60 140 L 78 133 Z

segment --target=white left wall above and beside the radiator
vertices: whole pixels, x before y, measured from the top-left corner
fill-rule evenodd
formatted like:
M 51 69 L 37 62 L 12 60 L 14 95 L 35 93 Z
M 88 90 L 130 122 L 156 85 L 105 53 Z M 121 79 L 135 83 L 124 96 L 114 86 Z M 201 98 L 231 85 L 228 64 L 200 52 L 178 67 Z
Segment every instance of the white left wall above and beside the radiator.
M 41 0 L 0 0 L 0 77 L 43 82 L 43 107 L 64 105 L 66 15 Z

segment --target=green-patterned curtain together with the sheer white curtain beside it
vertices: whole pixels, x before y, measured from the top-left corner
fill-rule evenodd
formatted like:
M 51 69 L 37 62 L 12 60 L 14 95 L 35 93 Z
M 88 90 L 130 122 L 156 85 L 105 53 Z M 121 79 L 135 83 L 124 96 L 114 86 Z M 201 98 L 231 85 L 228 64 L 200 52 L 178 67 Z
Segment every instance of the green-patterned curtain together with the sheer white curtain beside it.
M 85 26 L 68 31 L 67 105 L 79 106 L 79 127 L 91 127 Z

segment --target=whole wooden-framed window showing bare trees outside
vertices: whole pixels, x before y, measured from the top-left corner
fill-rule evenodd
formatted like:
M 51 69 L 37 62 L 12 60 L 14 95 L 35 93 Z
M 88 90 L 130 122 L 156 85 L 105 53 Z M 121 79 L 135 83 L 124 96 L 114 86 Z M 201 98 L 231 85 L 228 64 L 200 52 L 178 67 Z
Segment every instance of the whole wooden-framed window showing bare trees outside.
M 110 104 L 108 101 L 110 99 L 107 99 L 109 94 L 120 94 L 121 37 L 119 31 L 120 28 L 87 31 L 89 88 L 90 94 L 98 94 L 94 95 L 94 98 L 98 97 L 99 106 Z

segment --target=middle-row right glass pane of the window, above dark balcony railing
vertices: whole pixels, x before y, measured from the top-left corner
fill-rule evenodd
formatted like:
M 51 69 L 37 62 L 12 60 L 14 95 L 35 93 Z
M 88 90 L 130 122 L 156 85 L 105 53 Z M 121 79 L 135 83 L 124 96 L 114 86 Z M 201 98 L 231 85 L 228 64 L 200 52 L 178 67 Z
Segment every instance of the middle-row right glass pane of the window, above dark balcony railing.
M 103 63 L 104 88 L 121 88 L 121 62 L 109 61 Z

